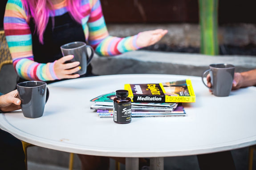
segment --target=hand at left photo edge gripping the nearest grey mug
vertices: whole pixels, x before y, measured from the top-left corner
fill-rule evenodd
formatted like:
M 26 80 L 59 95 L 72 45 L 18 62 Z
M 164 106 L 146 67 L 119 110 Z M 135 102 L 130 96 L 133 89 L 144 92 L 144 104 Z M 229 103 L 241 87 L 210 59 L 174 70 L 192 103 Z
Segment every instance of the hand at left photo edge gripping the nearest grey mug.
M 0 112 L 10 112 L 20 109 L 21 101 L 16 98 L 17 95 L 17 90 L 4 95 L 0 93 Z

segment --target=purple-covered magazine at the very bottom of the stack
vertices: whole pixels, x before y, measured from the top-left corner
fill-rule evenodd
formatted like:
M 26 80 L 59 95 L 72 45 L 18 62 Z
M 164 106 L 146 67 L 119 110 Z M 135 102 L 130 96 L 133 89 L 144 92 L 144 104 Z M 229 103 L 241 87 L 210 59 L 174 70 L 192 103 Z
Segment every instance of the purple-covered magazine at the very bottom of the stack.
M 97 110 L 100 117 L 113 117 L 113 110 Z M 157 117 L 157 116 L 186 116 L 186 112 L 182 104 L 173 110 L 173 112 L 134 112 L 131 113 L 132 117 Z

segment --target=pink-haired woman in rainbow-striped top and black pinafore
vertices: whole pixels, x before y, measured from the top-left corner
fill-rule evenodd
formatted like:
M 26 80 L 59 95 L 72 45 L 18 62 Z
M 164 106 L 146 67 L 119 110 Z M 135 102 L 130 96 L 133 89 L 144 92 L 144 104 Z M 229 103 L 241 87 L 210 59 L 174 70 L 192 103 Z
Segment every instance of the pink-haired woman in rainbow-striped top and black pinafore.
M 167 30 L 144 31 L 118 38 L 110 36 L 100 0 L 8 0 L 4 31 L 13 66 L 24 80 L 77 78 L 79 62 L 66 63 L 73 55 L 62 57 L 60 46 L 87 42 L 100 56 L 122 54 L 158 42 Z M 87 74 L 92 74 L 91 66 Z

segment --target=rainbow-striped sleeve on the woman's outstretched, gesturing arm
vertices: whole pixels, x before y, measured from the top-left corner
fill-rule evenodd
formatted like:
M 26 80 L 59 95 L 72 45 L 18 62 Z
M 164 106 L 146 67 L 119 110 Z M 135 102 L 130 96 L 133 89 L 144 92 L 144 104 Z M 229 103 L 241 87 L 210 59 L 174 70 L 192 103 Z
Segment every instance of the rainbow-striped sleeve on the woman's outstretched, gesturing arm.
M 95 49 L 97 54 L 103 56 L 117 55 L 139 48 L 136 45 L 137 35 L 126 38 L 118 38 L 109 35 L 102 14 L 100 0 L 92 0 L 90 5 L 89 17 L 85 16 L 84 19 L 88 20 L 88 42 Z M 86 29 L 86 27 L 84 27 L 84 29 Z

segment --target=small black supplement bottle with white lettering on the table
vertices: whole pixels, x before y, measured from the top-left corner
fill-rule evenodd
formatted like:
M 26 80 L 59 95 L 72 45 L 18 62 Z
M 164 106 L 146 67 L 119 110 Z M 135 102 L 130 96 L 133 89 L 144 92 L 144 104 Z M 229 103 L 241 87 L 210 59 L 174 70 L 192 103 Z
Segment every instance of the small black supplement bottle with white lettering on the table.
M 131 122 L 131 99 L 127 90 L 117 90 L 114 98 L 114 122 L 129 124 Z

